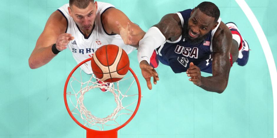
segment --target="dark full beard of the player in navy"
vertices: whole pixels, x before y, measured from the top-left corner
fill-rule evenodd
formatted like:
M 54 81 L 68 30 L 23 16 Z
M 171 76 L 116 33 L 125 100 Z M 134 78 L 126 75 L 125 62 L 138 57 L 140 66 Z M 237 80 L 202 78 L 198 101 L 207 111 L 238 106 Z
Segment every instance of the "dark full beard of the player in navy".
M 185 41 L 187 41 L 187 42 L 189 42 L 193 45 L 196 45 L 196 44 L 202 43 L 209 36 L 209 33 L 205 34 L 202 37 L 191 39 L 191 37 L 189 36 L 188 23 L 185 22 L 184 27 L 183 27 L 183 34 L 182 35 L 185 38 Z

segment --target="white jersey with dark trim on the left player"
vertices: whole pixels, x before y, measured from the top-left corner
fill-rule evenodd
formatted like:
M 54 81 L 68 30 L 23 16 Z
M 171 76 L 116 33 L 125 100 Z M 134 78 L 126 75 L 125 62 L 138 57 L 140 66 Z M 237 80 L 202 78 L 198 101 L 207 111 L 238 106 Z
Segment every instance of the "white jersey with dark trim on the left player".
M 109 8 L 114 7 L 111 4 L 104 2 L 97 2 L 98 10 L 96 12 L 95 18 L 95 27 L 93 28 L 92 33 L 85 38 L 83 33 L 80 31 L 80 28 L 73 21 L 73 18 L 69 15 L 67 7 L 69 4 L 65 4 L 58 9 L 62 13 L 62 15 L 67 20 L 67 29 L 66 33 L 72 34 L 74 36 L 74 40 L 70 41 L 67 45 L 67 48 L 72 52 L 73 58 L 79 64 L 85 59 L 92 57 L 92 54 L 101 46 L 114 44 L 120 46 L 122 49 L 126 51 L 127 54 L 134 51 L 136 48 L 133 46 L 125 45 L 121 36 L 118 34 L 108 34 L 103 28 L 101 15 Z M 88 68 L 84 68 L 85 65 L 82 65 L 81 68 L 87 74 L 91 74 L 92 69 L 90 68 L 90 62 L 88 63 Z

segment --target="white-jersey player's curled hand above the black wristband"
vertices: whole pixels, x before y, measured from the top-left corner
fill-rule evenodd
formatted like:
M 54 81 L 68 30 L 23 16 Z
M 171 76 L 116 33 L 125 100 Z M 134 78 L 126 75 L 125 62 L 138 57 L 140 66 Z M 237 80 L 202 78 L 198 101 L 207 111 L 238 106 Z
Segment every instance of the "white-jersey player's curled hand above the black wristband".
M 74 37 L 72 37 L 71 34 L 69 34 L 69 33 L 60 34 L 56 41 L 57 50 L 58 51 L 65 50 L 68 43 L 73 39 L 74 39 Z

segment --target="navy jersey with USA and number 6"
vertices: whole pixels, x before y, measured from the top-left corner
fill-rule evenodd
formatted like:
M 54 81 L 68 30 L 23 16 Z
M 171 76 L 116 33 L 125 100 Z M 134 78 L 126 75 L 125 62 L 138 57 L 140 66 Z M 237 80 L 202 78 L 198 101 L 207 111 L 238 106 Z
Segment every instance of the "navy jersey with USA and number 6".
M 191 11 L 192 9 L 187 9 L 175 13 L 181 19 L 183 27 L 184 21 L 189 20 Z M 201 71 L 212 73 L 212 38 L 221 22 L 221 18 L 218 19 L 218 22 L 217 27 L 209 32 L 208 37 L 202 43 L 191 44 L 182 35 L 177 41 L 166 40 L 163 45 L 156 49 L 160 62 L 169 65 L 174 73 L 186 72 L 190 62 L 193 62 Z

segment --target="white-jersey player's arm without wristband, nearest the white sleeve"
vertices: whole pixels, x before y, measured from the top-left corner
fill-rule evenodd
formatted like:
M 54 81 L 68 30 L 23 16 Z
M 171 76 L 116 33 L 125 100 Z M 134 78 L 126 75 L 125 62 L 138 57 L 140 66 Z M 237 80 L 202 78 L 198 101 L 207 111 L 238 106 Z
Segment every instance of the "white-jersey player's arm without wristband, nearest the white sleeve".
M 126 45 L 139 47 L 145 32 L 120 10 L 110 8 L 102 15 L 104 29 L 109 34 L 119 34 Z

